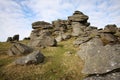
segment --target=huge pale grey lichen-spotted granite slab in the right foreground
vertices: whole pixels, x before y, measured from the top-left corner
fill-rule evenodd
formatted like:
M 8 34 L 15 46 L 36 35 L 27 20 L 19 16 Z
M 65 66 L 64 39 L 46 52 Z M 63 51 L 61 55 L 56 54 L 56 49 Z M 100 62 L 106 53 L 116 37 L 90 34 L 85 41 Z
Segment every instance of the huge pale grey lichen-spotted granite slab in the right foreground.
M 85 74 L 103 74 L 120 68 L 120 44 L 103 46 L 100 39 L 94 38 L 80 45 L 78 55 L 85 61 Z

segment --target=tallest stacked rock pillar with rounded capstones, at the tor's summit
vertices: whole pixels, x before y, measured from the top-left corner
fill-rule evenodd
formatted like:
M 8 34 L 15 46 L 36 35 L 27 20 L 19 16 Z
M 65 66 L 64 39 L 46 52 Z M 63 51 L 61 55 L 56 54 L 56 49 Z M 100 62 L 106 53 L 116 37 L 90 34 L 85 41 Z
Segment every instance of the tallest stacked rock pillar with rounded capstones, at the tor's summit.
M 84 29 L 90 24 L 87 22 L 88 18 L 80 11 L 75 11 L 72 16 L 68 17 L 73 29 L 72 36 L 80 36 L 84 33 Z

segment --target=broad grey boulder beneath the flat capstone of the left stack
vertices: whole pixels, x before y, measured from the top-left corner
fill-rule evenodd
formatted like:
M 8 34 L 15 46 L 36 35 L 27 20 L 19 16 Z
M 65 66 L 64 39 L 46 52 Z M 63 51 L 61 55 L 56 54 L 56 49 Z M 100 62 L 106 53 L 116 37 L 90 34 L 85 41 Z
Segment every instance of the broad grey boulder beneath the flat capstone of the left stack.
M 51 36 L 49 31 L 46 30 L 36 30 L 36 32 L 31 33 L 31 40 L 29 46 L 32 47 L 47 47 L 56 46 L 57 41 Z

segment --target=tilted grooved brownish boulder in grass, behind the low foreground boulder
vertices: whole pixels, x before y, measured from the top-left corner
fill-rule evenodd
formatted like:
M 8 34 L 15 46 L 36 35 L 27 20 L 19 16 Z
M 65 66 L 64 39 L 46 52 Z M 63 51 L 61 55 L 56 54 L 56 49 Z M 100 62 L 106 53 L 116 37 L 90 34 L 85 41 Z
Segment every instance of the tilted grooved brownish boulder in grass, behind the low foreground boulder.
M 14 56 L 14 55 L 23 55 L 23 54 L 28 54 L 32 52 L 33 49 L 21 44 L 21 43 L 15 43 L 9 50 L 8 50 L 8 55 L 9 56 Z

